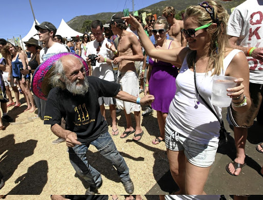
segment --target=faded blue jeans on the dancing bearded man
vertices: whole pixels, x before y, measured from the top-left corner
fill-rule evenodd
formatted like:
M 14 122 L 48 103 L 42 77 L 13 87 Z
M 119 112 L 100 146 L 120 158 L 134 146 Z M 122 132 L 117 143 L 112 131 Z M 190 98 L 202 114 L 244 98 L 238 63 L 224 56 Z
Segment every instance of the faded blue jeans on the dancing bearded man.
M 101 134 L 90 144 L 95 146 L 100 151 L 100 154 L 116 167 L 122 182 L 129 180 L 129 168 L 108 132 Z M 68 148 L 69 160 L 79 176 L 84 178 L 89 184 L 100 187 L 102 184 L 101 174 L 90 166 L 87 161 L 86 152 L 90 144 L 76 145 L 73 148 Z

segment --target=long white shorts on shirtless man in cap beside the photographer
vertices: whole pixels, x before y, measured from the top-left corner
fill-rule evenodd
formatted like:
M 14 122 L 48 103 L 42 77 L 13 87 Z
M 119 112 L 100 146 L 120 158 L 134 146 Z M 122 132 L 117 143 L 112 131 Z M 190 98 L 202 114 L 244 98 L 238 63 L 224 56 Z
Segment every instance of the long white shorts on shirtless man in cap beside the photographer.
M 118 71 L 117 83 L 121 85 L 121 89 L 128 94 L 139 97 L 139 81 L 138 75 L 135 71 L 121 73 Z M 129 114 L 134 111 L 140 111 L 141 106 L 136 103 L 124 102 L 120 99 L 116 99 L 116 104 L 118 109 L 125 109 L 126 113 Z

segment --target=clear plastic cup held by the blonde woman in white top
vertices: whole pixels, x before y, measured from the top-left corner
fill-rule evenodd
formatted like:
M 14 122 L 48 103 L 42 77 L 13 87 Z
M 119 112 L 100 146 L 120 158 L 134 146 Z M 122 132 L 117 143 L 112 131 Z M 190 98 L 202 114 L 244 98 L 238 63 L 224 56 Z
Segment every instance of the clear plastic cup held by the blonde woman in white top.
M 212 104 L 218 107 L 229 107 L 232 101 L 227 93 L 228 88 L 234 88 L 236 78 L 232 76 L 214 76 L 212 87 Z

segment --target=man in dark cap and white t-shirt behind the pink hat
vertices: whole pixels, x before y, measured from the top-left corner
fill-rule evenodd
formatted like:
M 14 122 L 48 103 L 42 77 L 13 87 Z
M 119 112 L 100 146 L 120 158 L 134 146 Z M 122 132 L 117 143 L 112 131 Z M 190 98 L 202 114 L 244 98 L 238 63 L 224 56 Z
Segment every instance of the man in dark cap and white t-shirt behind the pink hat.
M 50 22 L 42 22 L 40 25 L 35 25 L 35 29 L 39 31 L 39 40 L 40 42 L 44 42 L 46 47 L 44 47 L 40 51 L 40 63 L 43 63 L 51 57 L 52 55 L 60 52 L 67 52 L 68 50 L 66 47 L 62 44 L 56 43 L 53 41 L 53 38 L 55 36 L 55 33 L 57 32 L 57 28 Z M 41 110 L 40 117 L 44 119 L 45 114 L 45 108 L 46 108 L 46 101 L 43 99 L 35 97 L 35 104 L 37 107 L 37 110 Z M 52 144 L 59 144 L 61 142 L 64 142 L 65 140 L 63 138 L 55 139 Z

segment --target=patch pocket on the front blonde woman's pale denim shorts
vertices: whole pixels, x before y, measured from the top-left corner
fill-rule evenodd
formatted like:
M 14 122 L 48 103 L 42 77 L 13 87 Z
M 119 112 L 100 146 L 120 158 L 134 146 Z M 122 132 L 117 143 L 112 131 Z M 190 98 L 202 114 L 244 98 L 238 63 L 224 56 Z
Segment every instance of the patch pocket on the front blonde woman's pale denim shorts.
M 192 141 L 192 139 L 187 140 L 187 147 L 188 147 L 188 153 L 196 158 L 196 159 L 205 159 L 206 158 L 206 151 L 208 145 L 201 144 L 195 141 Z

